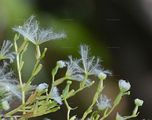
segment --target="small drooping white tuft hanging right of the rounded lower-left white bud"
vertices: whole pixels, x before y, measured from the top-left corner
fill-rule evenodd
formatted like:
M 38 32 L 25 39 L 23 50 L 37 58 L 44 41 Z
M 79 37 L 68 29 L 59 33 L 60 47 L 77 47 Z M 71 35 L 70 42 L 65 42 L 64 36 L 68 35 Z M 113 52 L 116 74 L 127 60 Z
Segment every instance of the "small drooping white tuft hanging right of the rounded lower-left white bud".
M 62 100 L 61 100 L 61 97 L 59 95 L 59 92 L 58 92 L 58 88 L 57 87 L 53 87 L 51 89 L 51 98 L 54 99 L 58 104 L 62 105 Z

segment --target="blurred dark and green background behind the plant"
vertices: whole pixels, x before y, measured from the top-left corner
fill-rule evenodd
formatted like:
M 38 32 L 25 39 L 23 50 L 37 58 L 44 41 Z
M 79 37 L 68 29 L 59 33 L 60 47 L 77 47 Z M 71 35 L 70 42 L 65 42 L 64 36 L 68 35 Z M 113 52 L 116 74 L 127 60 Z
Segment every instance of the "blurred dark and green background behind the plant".
M 138 97 L 144 100 L 138 120 L 152 119 L 152 0 L 0 0 L 1 42 L 12 39 L 12 27 L 22 25 L 31 15 L 41 26 L 53 26 L 67 33 L 65 40 L 42 45 L 48 47 L 48 53 L 37 83 L 51 83 L 50 71 L 56 61 L 67 60 L 68 55 L 78 57 L 79 45 L 87 44 L 91 54 L 101 57 L 103 66 L 113 73 L 106 80 L 104 93 L 108 97 L 113 100 L 117 95 L 119 79 L 132 85 L 131 96 L 123 98 L 116 111 L 131 114 L 133 100 Z M 25 79 L 33 65 L 32 50 L 31 46 L 25 57 Z M 80 107 L 76 110 L 78 116 L 87 108 L 95 88 L 70 100 L 71 106 Z M 59 112 L 44 117 L 64 120 L 65 116 L 63 106 Z

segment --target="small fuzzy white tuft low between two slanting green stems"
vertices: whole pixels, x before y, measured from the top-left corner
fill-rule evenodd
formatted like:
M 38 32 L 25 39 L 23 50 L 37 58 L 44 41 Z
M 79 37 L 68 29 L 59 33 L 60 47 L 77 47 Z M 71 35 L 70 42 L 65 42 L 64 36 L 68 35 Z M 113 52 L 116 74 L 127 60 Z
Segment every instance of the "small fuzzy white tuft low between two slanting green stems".
M 97 101 L 97 107 L 99 110 L 105 110 L 111 107 L 111 100 L 107 98 L 107 96 L 102 95 Z

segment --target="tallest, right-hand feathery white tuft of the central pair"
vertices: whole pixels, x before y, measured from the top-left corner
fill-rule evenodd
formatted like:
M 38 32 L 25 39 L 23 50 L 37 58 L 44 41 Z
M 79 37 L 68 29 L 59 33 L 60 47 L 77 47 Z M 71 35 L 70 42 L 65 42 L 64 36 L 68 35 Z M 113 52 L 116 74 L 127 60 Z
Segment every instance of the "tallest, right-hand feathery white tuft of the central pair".
M 102 68 L 100 64 L 100 59 L 90 57 L 89 56 L 89 47 L 87 45 L 80 46 L 80 55 L 81 55 L 81 62 L 82 62 L 82 72 L 88 75 L 99 75 L 99 73 L 110 73 Z

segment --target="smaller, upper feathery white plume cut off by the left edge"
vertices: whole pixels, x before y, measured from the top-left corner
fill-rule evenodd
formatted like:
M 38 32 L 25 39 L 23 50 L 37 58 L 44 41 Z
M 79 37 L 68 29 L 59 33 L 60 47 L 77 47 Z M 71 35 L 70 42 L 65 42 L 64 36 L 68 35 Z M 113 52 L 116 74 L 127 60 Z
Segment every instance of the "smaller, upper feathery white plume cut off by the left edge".
M 15 59 L 15 53 L 11 52 L 13 44 L 9 40 L 4 40 L 2 47 L 0 49 L 0 60 L 8 59 L 10 62 L 13 62 Z

